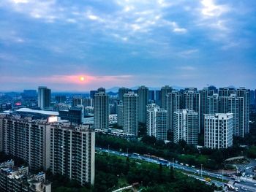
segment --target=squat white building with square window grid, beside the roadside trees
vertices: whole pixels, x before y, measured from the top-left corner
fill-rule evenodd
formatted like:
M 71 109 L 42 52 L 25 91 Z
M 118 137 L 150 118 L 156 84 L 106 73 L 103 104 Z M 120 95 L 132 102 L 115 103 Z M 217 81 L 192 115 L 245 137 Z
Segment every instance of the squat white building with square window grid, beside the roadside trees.
M 233 114 L 205 115 L 205 147 L 223 149 L 233 145 Z

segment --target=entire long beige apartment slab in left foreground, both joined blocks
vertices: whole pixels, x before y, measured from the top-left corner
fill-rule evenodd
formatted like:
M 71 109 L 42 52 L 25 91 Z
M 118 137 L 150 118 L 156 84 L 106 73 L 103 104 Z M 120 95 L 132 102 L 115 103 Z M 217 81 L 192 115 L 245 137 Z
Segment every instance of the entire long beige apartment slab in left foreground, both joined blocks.
M 95 131 L 89 125 L 1 115 L 3 151 L 23 158 L 32 170 L 50 169 L 80 185 L 94 184 Z

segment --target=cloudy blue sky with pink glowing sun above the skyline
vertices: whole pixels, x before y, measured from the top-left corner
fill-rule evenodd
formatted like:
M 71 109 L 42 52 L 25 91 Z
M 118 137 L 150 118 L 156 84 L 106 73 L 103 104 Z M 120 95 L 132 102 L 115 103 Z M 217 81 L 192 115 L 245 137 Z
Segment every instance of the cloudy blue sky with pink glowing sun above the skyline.
M 0 91 L 256 88 L 256 1 L 1 0 Z

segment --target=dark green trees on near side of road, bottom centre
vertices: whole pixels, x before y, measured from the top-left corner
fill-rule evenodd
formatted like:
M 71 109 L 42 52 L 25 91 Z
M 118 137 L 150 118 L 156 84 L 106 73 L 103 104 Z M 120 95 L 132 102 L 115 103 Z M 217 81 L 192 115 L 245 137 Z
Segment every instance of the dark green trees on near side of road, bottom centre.
M 145 162 L 136 164 L 129 158 L 112 155 L 97 155 L 96 163 L 95 191 L 112 191 L 120 188 L 114 177 L 127 180 L 127 185 L 140 183 L 140 186 L 144 186 L 142 191 L 214 191 L 214 186 L 205 185 L 162 165 Z

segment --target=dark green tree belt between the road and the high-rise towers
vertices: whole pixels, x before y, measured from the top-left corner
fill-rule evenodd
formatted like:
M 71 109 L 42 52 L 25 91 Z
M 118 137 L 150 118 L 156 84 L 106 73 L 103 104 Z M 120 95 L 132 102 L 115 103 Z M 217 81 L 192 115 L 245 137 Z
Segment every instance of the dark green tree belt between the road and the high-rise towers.
M 222 169 L 222 162 L 225 159 L 240 155 L 241 148 L 233 147 L 225 150 L 211 150 L 203 148 L 200 151 L 192 145 L 187 145 L 186 142 L 181 141 L 178 144 L 169 142 L 165 144 L 154 137 L 144 136 L 140 141 L 126 140 L 118 137 L 112 137 L 105 134 L 96 135 L 97 147 L 105 147 L 108 145 L 113 150 L 121 150 L 123 152 L 129 150 L 129 153 L 151 154 L 158 157 L 166 158 L 182 162 L 184 164 L 194 165 L 208 169 Z

